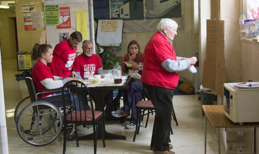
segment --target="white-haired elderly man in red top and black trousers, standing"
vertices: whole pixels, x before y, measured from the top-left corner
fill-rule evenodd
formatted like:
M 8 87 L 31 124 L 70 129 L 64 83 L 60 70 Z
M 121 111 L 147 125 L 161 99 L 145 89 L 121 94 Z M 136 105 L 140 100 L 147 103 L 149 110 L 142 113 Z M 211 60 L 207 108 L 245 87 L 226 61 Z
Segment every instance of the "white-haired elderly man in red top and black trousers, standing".
M 177 35 L 178 24 L 169 18 L 161 19 L 158 31 L 144 49 L 144 66 L 141 76 L 155 107 L 154 127 L 150 149 L 158 154 L 174 154 L 170 141 L 171 115 L 174 88 L 179 81 L 179 72 L 188 69 L 197 61 L 196 57 L 177 57 L 172 41 Z

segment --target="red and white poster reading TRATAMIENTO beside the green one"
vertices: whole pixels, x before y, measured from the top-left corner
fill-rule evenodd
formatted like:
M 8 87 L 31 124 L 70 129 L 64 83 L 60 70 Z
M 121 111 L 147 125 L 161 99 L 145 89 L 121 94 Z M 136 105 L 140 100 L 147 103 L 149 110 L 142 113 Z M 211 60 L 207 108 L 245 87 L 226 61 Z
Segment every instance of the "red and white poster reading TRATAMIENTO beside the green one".
M 57 26 L 57 29 L 71 28 L 69 7 L 59 8 L 59 24 L 60 25 Z

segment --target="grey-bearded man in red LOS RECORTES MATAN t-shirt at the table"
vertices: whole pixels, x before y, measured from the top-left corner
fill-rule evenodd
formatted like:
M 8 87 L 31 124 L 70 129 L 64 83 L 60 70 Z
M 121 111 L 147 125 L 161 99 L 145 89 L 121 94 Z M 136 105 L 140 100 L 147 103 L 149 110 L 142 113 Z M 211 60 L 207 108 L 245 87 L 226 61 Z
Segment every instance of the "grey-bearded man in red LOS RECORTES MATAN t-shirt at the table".
M 82 43 L 83 53 L 75 58 L 73 69 L 77 79 L 84 79 L 84 76 L 103 74 L 101 58 L 93 54 L 93 43 L 91 40 L 84 40 Z

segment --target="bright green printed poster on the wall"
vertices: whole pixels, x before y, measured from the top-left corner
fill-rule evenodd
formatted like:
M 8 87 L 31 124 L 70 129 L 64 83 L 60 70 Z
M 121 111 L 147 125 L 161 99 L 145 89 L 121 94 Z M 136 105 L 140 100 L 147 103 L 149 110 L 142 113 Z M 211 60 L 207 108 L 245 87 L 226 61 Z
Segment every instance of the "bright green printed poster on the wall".
M 44 5 L 46 25 L 59 25 L 59 5 Z

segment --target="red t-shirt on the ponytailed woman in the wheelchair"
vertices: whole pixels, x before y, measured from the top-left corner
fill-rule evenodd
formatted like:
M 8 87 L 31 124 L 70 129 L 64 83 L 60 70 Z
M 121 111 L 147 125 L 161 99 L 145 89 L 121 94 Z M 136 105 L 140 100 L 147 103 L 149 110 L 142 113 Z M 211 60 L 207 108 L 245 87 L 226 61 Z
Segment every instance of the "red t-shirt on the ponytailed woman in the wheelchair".
M 38 86 L 37 90 L 39 92 L 47 89 L 44 87 L 44 85 L 41 84 L 41 81 L 47 78 L 54 80 L 54 77 L 50 71 L 50 68 L 44 63 L 42 63 L 42 61 L 38 61 L 37 63 L 34 64 L 32 68 L 32 81 Z M 56 92 L 48 92 L 48 93 L 40 94 L 39 96 L 46 97 L 54 93 Z

